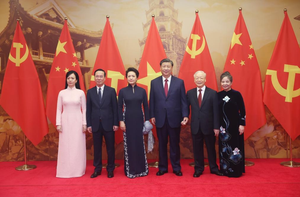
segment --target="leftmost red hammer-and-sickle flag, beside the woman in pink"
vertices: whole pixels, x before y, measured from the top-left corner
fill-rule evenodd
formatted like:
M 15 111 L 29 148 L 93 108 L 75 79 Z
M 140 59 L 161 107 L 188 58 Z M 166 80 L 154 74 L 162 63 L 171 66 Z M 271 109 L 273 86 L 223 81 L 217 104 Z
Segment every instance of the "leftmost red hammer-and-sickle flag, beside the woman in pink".
M 34 145 L 48 133 L 40 80 L 19 22 L 7 61 L 0 104 Z

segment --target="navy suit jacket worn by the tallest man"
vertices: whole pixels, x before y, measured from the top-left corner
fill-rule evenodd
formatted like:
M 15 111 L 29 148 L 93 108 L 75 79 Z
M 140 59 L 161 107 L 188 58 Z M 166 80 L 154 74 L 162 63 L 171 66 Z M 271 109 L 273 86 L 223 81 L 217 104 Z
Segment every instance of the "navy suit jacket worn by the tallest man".
M 156 127 L 163 127 L 167 114 L 170 127 L 180 127 L 182 117 L 188 117 L 184 82 L 172 76 L 168 95 L 163 87 L 163 77 L 151 81 L 149 109 L 150 118 L 155 118 Z

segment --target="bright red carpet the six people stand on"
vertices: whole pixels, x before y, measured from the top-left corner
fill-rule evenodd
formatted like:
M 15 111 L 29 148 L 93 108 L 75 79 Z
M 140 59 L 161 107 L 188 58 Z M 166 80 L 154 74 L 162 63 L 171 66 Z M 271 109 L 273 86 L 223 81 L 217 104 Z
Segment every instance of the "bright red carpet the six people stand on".
M 203 175 L 193 178 L 193 160 L 181 160 L 182 177 L 172 173 L 156 176 L 157 168 L 149 168 L 149 175 L 130 179 L 124 175 L 124 161 L 107 178 L 106 169 L 97 178 L 92 160 L 87 161 L 85 175 L 79 178 L 55 178 L 56 161 L 31 161 L 37 168 L 16 171 L 24 162 L 1 162 L 0 196 L 300 196 L 300 168 L 279 163 L 289 159 L 248 159 L 255 163 L 246 166 L 240 178 L 219 177 L 205 167 Z M 293 159 L 300 162 L 300 159 Z

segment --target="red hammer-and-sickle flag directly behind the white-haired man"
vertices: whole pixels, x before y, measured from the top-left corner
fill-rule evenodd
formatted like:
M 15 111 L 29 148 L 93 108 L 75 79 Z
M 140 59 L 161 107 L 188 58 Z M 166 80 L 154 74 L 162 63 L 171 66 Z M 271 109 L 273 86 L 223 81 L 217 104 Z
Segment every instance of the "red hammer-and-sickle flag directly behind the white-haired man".
M 214 64 L 211 60 L 198 12 L 196 12 L 196 19 L 178 74 L 178 77 L 184 80 L 186 91 L 196 87 L 193 75 L 198 70 L 206 73 L 205 85 L 218 91 Z

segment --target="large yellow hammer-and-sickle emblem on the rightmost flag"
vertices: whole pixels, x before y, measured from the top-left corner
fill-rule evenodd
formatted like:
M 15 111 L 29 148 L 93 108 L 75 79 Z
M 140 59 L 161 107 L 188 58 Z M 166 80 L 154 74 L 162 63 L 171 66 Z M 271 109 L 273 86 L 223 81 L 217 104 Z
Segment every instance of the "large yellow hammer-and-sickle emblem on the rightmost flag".
M 300 68 L 298 66 L 284 64 L 283 71 L 289 73 L 286 89 L 281 87 L 278 82 L 277 70 L 267 70 L 266 75 L 271 75 L 272 85 L 281 96 L 285 97 L 285 102 L 292 103 L 292 98 L 300 95 L 300 88 L 298 90 L 294 90 L 295 76 L 296 73 L 300 74 Z

